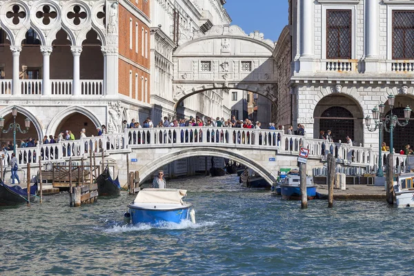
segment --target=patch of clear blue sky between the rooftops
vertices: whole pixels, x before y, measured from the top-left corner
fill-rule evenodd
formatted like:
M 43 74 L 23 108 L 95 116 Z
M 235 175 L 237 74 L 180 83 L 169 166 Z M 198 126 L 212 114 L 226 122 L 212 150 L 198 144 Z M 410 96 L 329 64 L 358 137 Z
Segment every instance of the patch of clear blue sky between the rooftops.
M 265 39 L 277 41 L 288 24 L 288 0 L 227 0 L 224 8 L 232 25 L 242 27 L 246 34 L 259 30 Z

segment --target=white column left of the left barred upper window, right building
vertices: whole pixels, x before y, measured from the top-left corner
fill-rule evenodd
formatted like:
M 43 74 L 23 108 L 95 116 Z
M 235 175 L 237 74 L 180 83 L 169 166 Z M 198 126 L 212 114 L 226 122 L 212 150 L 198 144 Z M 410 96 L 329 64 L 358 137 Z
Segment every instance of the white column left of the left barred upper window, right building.
M 302 0 L 302 52 L 301 57 L 313 56 L 313 1 Z

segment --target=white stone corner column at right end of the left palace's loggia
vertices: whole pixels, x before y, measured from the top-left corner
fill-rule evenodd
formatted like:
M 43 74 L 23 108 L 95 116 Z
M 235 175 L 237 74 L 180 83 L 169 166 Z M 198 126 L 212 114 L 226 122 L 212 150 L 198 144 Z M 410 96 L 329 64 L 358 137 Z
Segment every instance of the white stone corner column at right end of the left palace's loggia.
M 102 46 L 103 52 L 103 94 L 117 95 L 118 92 L 118 48 L 115 46 Z

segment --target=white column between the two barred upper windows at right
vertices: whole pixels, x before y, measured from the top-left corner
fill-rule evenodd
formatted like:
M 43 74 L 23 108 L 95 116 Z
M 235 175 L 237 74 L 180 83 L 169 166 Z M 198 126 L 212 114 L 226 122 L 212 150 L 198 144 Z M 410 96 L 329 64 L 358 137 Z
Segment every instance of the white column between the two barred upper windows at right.
M 366 52 L 368 58 L 378 58 L 378 14 L 379 4 L 377 0 L 366 0 Z

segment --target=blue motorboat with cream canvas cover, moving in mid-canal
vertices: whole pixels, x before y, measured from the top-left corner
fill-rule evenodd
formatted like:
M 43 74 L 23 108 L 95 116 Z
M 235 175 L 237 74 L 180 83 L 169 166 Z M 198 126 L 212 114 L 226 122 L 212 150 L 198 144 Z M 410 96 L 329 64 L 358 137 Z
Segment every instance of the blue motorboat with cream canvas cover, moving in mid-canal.
M 191 217 L 195 222 L 192 204 L 186 204 L 182 198 L 186 197 L 187 190 L 179 189 L 144 189 L 139 191 L 132 203 L 128 204 L 128 211 L 124 215 L 126 222 L 132 224 L 160 224 L 174 222 Z

